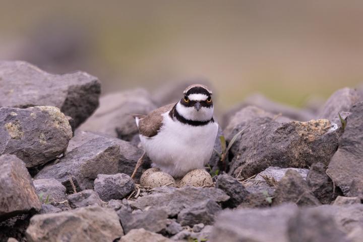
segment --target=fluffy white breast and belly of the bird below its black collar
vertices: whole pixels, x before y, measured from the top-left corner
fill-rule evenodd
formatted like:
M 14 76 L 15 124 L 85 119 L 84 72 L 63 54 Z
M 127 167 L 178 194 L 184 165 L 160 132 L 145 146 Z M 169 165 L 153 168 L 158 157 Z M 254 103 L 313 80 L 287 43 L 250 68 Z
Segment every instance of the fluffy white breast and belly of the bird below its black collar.
M 218 124 L 191 126 L 172 120 L 168 112 L 162 116 L 163 126 L 156 136 L 140 135 L 154 165 L 174 177 L 203 168 L 212 155 Z

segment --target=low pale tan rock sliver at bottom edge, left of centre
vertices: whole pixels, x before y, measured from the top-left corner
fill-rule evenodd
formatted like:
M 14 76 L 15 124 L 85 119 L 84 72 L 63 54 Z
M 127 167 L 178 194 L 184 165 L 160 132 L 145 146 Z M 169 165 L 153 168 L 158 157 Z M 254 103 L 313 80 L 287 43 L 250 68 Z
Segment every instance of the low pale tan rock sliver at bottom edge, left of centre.
M 153 241 L 153 242 L 172 242 L 173 240 L 162 236 L 158 233 L 147 231 L 143 228 L 133 229 L 125 236 L 122 236 L 119 242 L 139 242 L 139 241 Z

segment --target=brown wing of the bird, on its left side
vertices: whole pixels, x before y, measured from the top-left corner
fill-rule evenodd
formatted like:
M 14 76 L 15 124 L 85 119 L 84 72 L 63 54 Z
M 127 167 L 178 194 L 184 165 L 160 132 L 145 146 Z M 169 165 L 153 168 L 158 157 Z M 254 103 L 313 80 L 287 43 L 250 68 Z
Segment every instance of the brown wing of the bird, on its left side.
M 150 112 L 144 118 L 140 119 L 140 134 L 149 138 L 157 135 L 160 127 L 162 126 L 163 116 L 161 116 L 161 114 L 169 111 L 174 105 L 175 103 L 159 107 L 154 111 Z

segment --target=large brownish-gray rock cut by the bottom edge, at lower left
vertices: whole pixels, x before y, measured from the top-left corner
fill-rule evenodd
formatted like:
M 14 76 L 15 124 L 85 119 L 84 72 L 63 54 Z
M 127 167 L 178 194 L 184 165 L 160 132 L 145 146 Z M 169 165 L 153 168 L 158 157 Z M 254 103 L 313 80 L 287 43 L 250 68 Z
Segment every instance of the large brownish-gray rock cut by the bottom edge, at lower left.
M 116 212 L 90 206 L 72 211 L 35 215 L 26 230 L 28 241 L 113 241 L 124 235 Z

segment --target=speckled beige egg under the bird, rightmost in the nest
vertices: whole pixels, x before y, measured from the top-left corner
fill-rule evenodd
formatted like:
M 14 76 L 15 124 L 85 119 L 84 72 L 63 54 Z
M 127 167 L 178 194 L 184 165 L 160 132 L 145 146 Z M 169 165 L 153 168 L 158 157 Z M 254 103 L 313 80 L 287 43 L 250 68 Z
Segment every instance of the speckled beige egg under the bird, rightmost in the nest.
M 203 187 L 209 186 L 213 183 L 212 176 L 208 171 L 204 169 L 195 169 L 189 171 L 181 180 L 177 186 L 179 188 L 184 186 Z

